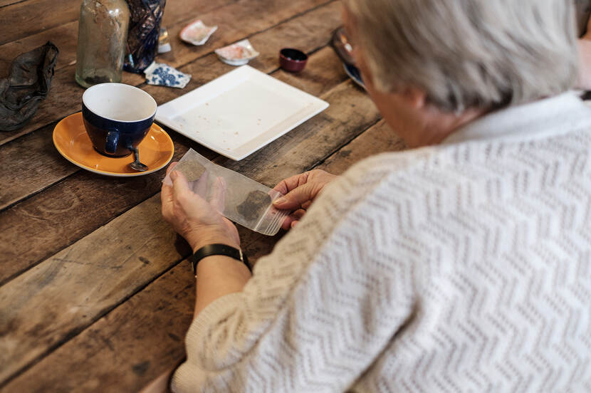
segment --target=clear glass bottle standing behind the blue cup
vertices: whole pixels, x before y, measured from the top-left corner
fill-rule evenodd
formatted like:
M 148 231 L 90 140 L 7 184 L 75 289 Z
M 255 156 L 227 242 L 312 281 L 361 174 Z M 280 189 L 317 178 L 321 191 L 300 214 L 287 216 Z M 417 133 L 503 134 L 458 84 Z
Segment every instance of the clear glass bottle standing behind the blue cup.
M 129 21 L 125 0 L 83 0 L 76 48 L 79 85 L 121 82 Z

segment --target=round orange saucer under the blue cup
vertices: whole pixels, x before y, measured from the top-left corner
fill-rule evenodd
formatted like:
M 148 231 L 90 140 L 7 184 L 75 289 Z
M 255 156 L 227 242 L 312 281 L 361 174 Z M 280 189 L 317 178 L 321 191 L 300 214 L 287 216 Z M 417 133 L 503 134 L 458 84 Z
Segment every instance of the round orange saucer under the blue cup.
M 140 160 L 148 170 L 137 172 L 129 167 L 133 154 L 127 157 L 113 158 L 99 154 L 84 128 L 82 112 L 74 113 L 58 122 L 53 129 L 53 145 L 69 162 L 90 172 L 107 176 L 131 177 L 150 174 L 162 169 L 172 159 L 174 145 L 169 135 L 157 124 L 152 124 L 140 145 Z

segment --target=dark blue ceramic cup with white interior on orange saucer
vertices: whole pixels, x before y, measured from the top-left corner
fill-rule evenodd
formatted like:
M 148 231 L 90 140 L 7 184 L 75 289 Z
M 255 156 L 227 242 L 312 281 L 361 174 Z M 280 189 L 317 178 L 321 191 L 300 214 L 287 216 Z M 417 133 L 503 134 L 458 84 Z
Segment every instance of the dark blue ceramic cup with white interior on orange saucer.
M 152 96 L 124 83 L 100 83 L 82 96 L 84 127 L 95 150 L 125 157 L 150 131 L 158 105 Z

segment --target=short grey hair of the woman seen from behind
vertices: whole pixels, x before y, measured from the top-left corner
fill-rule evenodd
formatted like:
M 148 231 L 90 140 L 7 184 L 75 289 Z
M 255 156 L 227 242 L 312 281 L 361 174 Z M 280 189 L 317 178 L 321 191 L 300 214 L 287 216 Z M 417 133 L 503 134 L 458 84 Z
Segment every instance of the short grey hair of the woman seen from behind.
M 577 77 L 572 0 L 345 0 L 372 83 L 446 111 L 518 105 Z

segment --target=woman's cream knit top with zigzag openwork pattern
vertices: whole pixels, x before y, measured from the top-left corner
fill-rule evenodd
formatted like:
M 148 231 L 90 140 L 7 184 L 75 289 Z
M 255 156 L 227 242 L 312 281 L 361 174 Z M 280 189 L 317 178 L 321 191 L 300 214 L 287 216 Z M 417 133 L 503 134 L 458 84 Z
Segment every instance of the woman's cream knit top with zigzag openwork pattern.
M 187 333 L 174 392 L 591 392 L 591 110 L 347 171 Z

